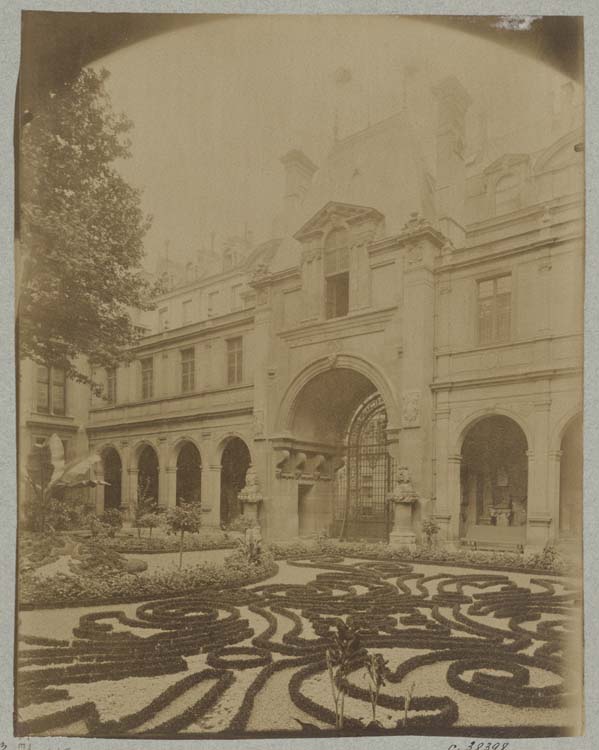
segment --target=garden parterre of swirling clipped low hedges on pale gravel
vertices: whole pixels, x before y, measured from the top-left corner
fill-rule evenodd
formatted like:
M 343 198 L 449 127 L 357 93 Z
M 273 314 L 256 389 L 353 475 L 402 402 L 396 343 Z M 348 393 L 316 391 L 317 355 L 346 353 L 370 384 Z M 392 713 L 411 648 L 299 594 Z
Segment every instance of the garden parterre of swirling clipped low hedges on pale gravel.
M 89 612 L 68 640 L 23 632 L 20 732 L 335 733 L 325 655 L 344 621 L 388 661 L 379 726 L 365 728 L 370 704 L 363 670 L 356 670 L 347 677 L 344 731 L 569 733 L 576 696 L 565 639 L 576 631 L 580 608 L 570 581 L 528 576 L 524 585 L 521 575 L 487 571 L 430 575 L 399 560 L 323 554 L 288 565 L 303 569 L 308 582 L 286 583 L 279 574 L 258 585 L 145 602 L 134 616 L 118 607 Z M 140 679 L 152 690 L 132 701 L 129 685 Z M 109 699 L 117 694 L 121 701 Z

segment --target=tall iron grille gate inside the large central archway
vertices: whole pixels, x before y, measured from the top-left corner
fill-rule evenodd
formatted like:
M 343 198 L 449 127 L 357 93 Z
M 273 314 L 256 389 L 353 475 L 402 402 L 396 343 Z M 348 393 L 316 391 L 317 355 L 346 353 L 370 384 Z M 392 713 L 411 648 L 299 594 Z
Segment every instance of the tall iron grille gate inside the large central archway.
M 389 538 L 393 459 L 387 451 L 387 412 L 375 394 L 355 413 L 347 455 L 337 474 L 335 532 L 342 538 Z

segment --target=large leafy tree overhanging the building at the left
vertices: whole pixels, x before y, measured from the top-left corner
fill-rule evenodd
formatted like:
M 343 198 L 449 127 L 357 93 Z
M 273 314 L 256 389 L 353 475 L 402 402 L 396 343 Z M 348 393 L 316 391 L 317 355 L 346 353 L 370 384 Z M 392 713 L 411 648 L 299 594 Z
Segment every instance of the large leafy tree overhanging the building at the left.
M 83 69 L 50 92 L 22 127 L 18 337 L 22 357 L 63 367 L 114 367 L 137 338 L 131 308 L 151 309 L 141 268 L 150 218 L 115 164 L 132 123 L 112 110 L 108 72 Z

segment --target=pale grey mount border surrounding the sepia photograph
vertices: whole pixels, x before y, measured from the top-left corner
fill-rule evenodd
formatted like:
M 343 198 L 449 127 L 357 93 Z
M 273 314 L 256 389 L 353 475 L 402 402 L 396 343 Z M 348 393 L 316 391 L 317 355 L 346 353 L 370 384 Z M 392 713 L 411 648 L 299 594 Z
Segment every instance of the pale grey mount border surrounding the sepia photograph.
M 594 545 L 599 531 L 599 507 L 594 501 L 593 488 L 599 484 L 599 252 L 594 238 L 599 236 L 599 153 L 597 114 L 599 113 L 599 8 L 593 0 L 566 2 L 543 0 L 543 2 L 350 2 L 349 0 L 233 0 L 227 2 L 204 0 L 0 0 L 0 246 L 5 249 L 5 258 L 0 264 L 0 413 L 3 428 L 0 431 L 0 479 L 2 480 L 4 516 L 0 524 L 0 573 L 4 601 L 0 607 L 0 748 L 17 750 L 23 738 L 13 735 L 13 669 L 14 669 L 14 597 L 15 597 L 15 549 L 16 549 L 16 406 L 15 406 L 15 356 L 14 356 L 14 296 L 13 296 L 13 245 L 14 245 L 14 154 L 13 128 L 16 82 L 20 55 L 20 13 L 22 10 L 52 10 L 71 12 L 153 12 L 153 13 L 281 13 L 281 14 L 401 14 L 401 15 L 502 15 L 538 16 L 568 15 L 584 16 L 585 49 L 585 160 L 586 160 L 586 247 L 585 247 L 585 327 L 584 327 L 584 616 L 585 616 L 585 735 L 583 737 L 518 738 L 509 741 L 510 750 L 587 750 L 599 745 L 599 633 L 596 613 L 599 611 L 599 587 L 596 585 L 594 569 L 599 566 L 599 549 Z M 15 498 L 13 502 L 13 498 Z M 492 738 L 483 738 L 487 740 Z M 455 736 L 387 736 L 344 737 L 334 739 L 295 739 L 282 736 L 277 739 L 203 739 L 203 745 L 212 748 L 237 748 L 251 743 L 256 748 L 291 747 L 339 747 L 343 741 L 353 748 L 361 744 L 373 748 L 409 748 L 409 750 L 447 750 L 452 744 L 459 750 L 467 748 L 471 737 L 458 741 Z M 186 748 L 190 740 L 142 740 L 135 737 L 122 739 L 102 738 L 31 738 L 34 750 L 79 750 L 80 748 L 102 748 L 123 750 L 123 747 Z M 300 744 L 301 743 L 301 744 Z M 368 743 L 367 745 L 365 743 Z M 29 750 L 29 745 L 25 745 Z

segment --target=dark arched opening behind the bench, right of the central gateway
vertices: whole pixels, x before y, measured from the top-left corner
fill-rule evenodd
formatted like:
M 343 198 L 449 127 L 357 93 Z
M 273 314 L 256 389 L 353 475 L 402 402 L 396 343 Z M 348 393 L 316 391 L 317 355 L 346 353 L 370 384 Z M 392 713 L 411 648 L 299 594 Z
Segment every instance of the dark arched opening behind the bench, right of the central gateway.
M 460 536 L 524 543 L 528 443 L 521 427 L 495 415 L 476 422 L 462 444 Z

